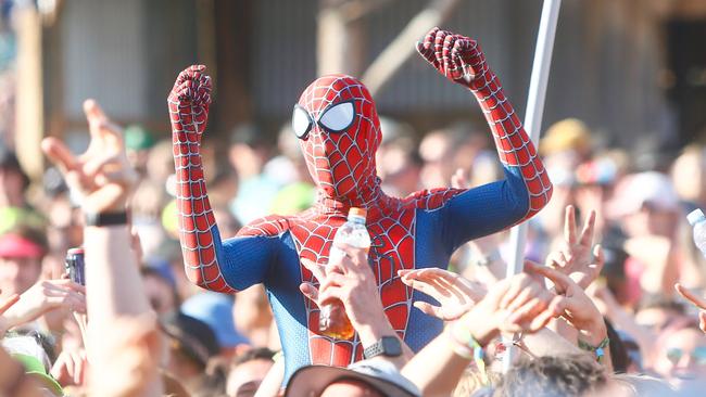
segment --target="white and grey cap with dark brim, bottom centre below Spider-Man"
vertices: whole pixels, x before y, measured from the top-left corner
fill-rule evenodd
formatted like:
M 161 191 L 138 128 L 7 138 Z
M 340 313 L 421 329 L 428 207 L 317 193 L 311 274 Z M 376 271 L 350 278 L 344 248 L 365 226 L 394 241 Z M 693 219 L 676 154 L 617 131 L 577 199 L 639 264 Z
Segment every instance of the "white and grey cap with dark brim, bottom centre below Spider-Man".
M 363 360 L 348 368 L 302 367 L 292 374 L 285 396 L 318 396 L 328 385 L 341 380 L 361 381 L 388 397 L 419 397 L 421 393 L 389 361 Z

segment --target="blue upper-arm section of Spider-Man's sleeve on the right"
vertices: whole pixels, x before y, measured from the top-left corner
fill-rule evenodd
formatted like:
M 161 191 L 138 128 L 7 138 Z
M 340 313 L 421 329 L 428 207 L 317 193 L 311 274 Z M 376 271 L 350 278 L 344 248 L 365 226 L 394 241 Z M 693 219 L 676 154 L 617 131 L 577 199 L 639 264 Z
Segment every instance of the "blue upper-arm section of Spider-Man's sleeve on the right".
M 529 210 L 529 194 L 518 167 L 504 167 L 505 179 L 469 189 L 438 209 L 449 253 L 466 242 L 504 230 Z

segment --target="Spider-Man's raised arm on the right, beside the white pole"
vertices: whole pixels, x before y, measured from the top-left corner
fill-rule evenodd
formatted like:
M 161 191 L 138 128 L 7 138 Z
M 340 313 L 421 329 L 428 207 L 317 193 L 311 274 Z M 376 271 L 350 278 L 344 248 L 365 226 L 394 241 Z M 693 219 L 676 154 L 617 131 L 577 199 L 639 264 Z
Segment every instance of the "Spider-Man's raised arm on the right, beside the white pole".
M 447 215 L 456 225 L 457 242 L 490 234 L 522 222 L 552 196 L 552 183 L 497 76 L 475 40 L 433 28 L 417 51 L 447 79 L 469 89 L 486 116 L 503 164 L 505 180 L 454 196 Z M 456 239 L 451 239 L 456 240 Z

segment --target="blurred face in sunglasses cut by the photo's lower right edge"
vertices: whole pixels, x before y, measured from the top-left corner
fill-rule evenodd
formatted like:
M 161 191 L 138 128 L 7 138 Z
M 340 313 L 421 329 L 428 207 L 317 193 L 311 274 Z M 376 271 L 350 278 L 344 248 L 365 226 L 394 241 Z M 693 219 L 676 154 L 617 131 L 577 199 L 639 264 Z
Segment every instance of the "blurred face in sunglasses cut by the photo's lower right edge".
M 655 370 L 671 379 L 706 377 L 706 335 L 697 329 L 671 334 L 659 349 Z

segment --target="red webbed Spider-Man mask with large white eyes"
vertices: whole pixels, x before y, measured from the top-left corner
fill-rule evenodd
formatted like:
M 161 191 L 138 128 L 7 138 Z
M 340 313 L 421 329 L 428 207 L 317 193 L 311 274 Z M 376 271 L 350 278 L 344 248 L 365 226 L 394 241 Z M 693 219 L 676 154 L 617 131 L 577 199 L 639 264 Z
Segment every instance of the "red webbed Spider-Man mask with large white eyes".
M 294 105 L 292 127 L 325 197 L 350 205 L 369 200 L 366 194 L 378 183 L 380 121 L 361 81 L 345 75 L 316 79 Z

